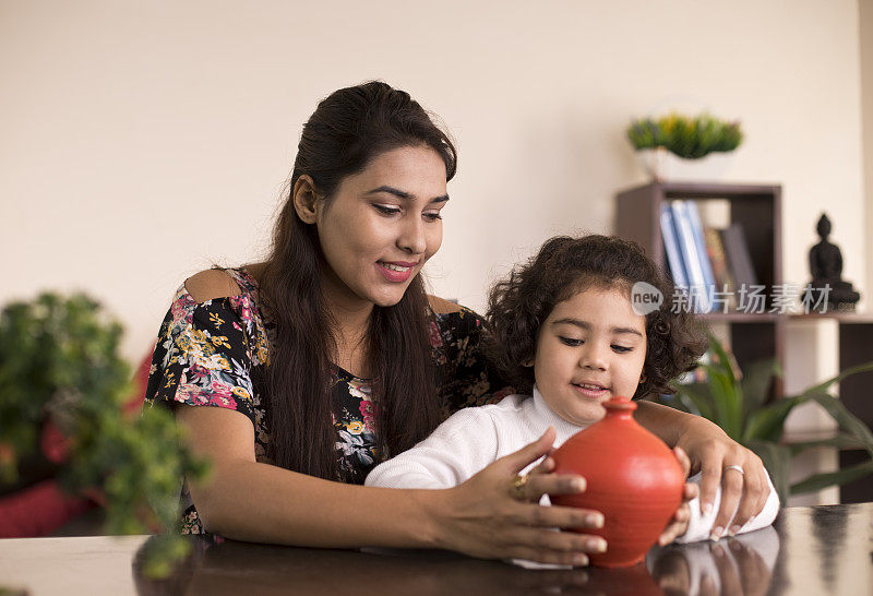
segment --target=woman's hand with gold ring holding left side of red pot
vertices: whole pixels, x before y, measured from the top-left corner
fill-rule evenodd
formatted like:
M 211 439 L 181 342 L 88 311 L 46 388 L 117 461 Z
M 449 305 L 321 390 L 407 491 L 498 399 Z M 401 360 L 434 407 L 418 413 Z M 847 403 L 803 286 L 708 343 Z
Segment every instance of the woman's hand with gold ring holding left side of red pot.
M 584 492 L 583 477 L 547 474 L 540 464 L 524 484 L 524 497 L 516 493 L 516 475 L 547 455 L 553 442 L 554 429 L 549 427 L 538 440 L 501 457 L 466 482 L 436 491 L 440 546 L 483 559 L 570 565 L 586 565 L 587 552 L 605 551 L 606 541 L 599 536 L 554 529 L 601 527 L 601 513 L 537 504 L 546 493 Z

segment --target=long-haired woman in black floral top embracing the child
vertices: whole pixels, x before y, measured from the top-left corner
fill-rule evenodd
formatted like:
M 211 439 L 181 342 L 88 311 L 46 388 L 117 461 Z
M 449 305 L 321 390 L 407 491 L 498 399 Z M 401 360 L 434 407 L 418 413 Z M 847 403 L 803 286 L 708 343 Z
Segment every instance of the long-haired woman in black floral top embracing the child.
M 436 547 L 475 557 L 585 564 L 597 512 L 529 499 L 584 490 L 539 473 L 553 431 L 449 490 L 359 486 L 379 461 L 447 414 L 500 398 L 479 350 L 481 320 L 424 294 L 456 155 L 409 95 L 384 83 L 339 90 L 303 127 L 290 192 L 264 263 L 210 270 L 179 289 L 162 326 L 147 396 L 171 404 L 208 481 L 186 486 L 183 526 L 313 547 Z M 217 407 L 199 407 L 202 405 Z M 761 461 L 710 422 L 653 404 L 638 419 L 685 449 L 722 527 L 757 513 Z M 539 468 L 548 472 L 549 460 Z

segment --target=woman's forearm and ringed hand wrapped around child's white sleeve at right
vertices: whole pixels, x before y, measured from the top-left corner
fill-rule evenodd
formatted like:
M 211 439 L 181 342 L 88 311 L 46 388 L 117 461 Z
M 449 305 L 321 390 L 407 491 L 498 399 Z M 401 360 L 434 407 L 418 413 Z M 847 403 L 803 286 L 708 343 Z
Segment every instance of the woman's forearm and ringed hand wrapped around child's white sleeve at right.
M 706 418 L 660 404 L 637 402 L 635 418 L 668 445 L 681 446 L 689 454 L 692 470 L 702 474 L 701 510 L 704 515 L 717 511 L 713 527 L 727 528 L 731 517 L 734 524 L 744 526 L 761 514 L 772 489 L 764 464 L 752 451 Z M 729 465 L 739 465 L 744 474 L 731 473 L 722 478 Z M 716 509 L 719 486 L 720 502 Z

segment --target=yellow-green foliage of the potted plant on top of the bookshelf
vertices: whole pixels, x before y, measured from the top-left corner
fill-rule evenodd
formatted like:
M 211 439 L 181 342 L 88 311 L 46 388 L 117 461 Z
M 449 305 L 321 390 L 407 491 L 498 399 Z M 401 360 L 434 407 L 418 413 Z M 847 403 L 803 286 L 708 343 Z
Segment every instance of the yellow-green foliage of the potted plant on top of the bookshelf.
M 633 120 L 627 139 L 635 150 L 665 150 L 686 159 L 698 159 L 714 152 L 740 146 L 743 132 L 739 122 L 726 122 L 708 114 L 694 118 L 669 114 L 658 119 Z

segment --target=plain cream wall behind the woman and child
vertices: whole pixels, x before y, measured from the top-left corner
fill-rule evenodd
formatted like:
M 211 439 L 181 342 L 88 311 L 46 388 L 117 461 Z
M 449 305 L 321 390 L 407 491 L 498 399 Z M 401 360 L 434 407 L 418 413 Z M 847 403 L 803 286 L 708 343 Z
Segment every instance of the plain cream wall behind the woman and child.
M 372 78 L 458 141 L 438 294 L 481 309 L 546 237 L 610 229 L 645 180 L 625 124 L 677 104 L 742 119 L 727 179 L 784 184 L 788 281 L 826 207 L 863 287 L 857 0 L 531 7 L 0 0 L 0 302 L 86 289 L 139 357 L 187 275 L 263 250 L 318 100 Z

